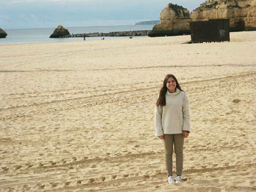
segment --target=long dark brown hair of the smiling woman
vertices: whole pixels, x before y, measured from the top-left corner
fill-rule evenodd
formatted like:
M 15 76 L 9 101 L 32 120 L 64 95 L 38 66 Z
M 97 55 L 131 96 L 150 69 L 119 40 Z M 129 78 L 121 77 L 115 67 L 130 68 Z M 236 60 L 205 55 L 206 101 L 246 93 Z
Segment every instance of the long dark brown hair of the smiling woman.
M 179 83 L 178 83 L 176 77 L 175 77 L 174 75 L 172 75 L 172 74 L 166 75 L 166 76 L 165 76 L 165 80 L 163 80 L 163 87 L 161 88 L 160 93 L 159 93 L 159 97 L 158 97 L 158 99 L 157 99 L 157 103 L 156 103 L 157 106 L 159 106 L 159 105 L 165 106 L 165 105 L 166 105 L 166 100 L 165 100 L 165 94 L 166 94 L 166 92 L 167 92 L 166 83 L 167 83 L 168 79 L 171 78 L 171 77 L 172 77 L 172 78 L 175 80 L 175 82 L 176 82 L 175 90 L 176 90 L 176 88 L 178 88 L 179 90 L 181 90 L 180 85 L 179 85 Z M 181 91 L 183 91 L 183 90 L 181 90 Z

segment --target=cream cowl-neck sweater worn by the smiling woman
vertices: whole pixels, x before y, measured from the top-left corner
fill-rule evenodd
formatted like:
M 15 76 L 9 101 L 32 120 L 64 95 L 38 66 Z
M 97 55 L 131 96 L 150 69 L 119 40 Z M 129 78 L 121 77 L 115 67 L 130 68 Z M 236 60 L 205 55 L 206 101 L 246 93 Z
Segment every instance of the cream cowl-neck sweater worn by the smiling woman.
M 188 99 L 184 91 L 166 92 L 166 105 L 155 106 L 155 135 L 190 131 Z

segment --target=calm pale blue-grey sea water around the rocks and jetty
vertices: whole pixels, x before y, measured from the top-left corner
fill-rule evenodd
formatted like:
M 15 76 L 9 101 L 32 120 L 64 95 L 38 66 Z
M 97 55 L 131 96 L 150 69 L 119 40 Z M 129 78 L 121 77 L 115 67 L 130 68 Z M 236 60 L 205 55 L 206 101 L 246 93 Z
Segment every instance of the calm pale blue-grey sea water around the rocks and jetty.
M 92 26 L 92 27 L 65 27 L 70 34 L 78 33 L 109 33 L 116 31 L 138 31 L 152 30 L 154 25 L 123 25 L 123 26 Z M 41 42 L 60 42 L 60 41 L 82 41 L 83 38 L 49 38 L 55 28 L 37 29 L 3 29 L 7 33 L 6 38 L 0 38 L 0 44 L 26 44 Z M 145 38 L 148 36 L 136 36 L 133 38 Z M 102 37 L 86 37 L 86 40 L 96 40 Z M 120 39 L 129 37 L 104 37 L 105 39 Z

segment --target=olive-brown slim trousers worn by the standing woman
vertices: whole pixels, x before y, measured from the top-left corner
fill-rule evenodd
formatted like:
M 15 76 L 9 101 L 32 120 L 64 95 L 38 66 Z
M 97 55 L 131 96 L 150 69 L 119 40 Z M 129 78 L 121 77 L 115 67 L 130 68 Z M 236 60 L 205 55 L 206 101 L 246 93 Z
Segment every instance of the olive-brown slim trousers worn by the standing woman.
M 176 155 L 176 173 L 181 176 L 183 169 L 183 144 L 184 136 L 180 134 L 164 134 L 163 143 L 165 147 L 165 166 L 167 175 L 173 175 L 173 144 Z

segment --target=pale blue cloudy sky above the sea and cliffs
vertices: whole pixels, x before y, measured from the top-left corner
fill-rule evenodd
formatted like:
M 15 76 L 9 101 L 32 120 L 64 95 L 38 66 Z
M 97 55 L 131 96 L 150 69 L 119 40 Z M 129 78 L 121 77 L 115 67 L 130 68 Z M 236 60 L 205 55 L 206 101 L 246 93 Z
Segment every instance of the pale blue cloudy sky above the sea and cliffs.
M 205 0 L 0 0 L 0 28 L 134 25 L 159 20 L 168 3 L 192 12 Z

